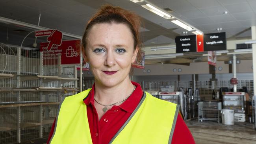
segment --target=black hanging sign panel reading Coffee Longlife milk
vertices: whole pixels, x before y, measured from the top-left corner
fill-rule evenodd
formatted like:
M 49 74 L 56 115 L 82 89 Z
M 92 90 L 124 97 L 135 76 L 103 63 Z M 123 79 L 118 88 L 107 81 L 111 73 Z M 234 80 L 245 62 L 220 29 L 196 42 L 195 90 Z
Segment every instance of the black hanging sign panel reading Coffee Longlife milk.
M 204 51 L 226 50 L 226 33 L 204 34 Z

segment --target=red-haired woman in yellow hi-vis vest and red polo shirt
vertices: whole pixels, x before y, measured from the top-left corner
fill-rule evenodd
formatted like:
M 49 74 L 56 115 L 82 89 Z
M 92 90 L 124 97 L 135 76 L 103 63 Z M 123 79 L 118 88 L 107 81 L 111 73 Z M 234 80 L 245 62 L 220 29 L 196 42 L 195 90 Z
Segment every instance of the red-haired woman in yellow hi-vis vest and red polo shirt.
M 195 143 L 178 105 L 143 92 L 129 79 L 131 64 L 141 55 L 139 27 L 137 15 L 108 5 L 89 20 L 83 54 L 95 84 L 61 103 L 48 143 Z

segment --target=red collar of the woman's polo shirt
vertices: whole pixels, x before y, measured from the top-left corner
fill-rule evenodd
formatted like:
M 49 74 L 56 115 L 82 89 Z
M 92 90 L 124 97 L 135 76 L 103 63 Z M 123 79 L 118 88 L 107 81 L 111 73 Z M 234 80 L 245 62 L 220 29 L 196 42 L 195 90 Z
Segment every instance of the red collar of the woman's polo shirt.
M 137 105 L 139 104 L 143 96 L 143 90 L 141 89 L 141 86 L 139 85 L 139 83 L 136 83 L 133 81 L 131 82 L 136 87 L 134 92 L 126 101 L 124 101 L 121 105 L 118 106 L 128 113 L 132 113 L 134 111 L 134 109 L 137 107 Z M 89 105 L 89 104 L 94 105 L 95 103 L 94 93 L 95 93 L 95 84 L 93 84 L 93 87 L 89 92 L 88 96 L 83 99 L 83 102 L 85 103 L 85 105 Z

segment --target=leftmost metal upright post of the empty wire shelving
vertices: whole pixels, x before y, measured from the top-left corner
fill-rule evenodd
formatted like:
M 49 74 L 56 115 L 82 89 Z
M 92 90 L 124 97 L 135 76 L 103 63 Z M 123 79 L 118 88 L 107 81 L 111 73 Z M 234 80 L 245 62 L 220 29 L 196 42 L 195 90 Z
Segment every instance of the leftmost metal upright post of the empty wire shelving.
M 20 88 L 21 47 L 17 48 L 17 88 Z M 17 102 L 20 102 L 20 91 L 17 91 Z M 17 107 L 17 142 L 20 143 L 20 107 Z

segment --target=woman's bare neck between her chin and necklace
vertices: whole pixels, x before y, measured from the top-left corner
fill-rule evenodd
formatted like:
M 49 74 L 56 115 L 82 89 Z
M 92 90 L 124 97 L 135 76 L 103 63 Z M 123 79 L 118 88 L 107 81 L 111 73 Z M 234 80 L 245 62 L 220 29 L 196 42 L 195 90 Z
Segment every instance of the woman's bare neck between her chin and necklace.
M 130 79 L 125 79 L 118 85 L 106 87 L 95 81 L 95 98 L 103 104 L 119 102 L 126 98 L 134 89 Z

